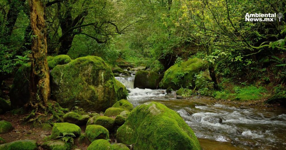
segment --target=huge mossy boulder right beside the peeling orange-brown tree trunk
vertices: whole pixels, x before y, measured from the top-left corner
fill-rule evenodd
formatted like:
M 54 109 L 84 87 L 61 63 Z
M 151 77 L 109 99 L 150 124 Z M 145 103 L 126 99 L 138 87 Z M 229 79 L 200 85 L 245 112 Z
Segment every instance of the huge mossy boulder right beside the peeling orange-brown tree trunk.
M 127 96 L 127 89 L 114 78 L 99 57 L 80 57 L 51 71 L 53 97 L 65 108 L 104 111 Z

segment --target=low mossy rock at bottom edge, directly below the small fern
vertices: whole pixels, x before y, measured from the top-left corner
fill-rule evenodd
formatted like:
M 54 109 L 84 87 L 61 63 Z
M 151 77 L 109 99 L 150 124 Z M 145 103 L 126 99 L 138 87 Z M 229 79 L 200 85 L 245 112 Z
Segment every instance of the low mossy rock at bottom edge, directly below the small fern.
M 62 140 L 47 141 L 41 145 L 43 149 L 48 150 L 70 150 L 72 146 Z

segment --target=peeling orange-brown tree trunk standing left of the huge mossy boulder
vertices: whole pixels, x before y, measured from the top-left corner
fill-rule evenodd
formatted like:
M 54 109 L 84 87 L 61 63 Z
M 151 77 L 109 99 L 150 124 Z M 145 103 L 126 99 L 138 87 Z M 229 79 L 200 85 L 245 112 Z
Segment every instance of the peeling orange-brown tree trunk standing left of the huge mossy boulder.
M 50 76 L 47 62 L 47 32 L 45 29 L 45 7 L 41 0 L 29 0 L 30 21 L 33 31 L 32 71 L 30 74 L 31 100 L 26 106 L 44 109 L 50 97 Z

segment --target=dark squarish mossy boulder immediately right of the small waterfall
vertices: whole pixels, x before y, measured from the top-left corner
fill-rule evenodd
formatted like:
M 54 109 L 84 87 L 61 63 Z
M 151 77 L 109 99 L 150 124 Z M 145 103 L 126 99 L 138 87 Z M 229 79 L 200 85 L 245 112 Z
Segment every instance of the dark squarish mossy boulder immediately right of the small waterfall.
M 157 89 L 162 79 L 161 74 L 153 71 L 138 71 L 135 74 L 134 88 L 139 89 Z

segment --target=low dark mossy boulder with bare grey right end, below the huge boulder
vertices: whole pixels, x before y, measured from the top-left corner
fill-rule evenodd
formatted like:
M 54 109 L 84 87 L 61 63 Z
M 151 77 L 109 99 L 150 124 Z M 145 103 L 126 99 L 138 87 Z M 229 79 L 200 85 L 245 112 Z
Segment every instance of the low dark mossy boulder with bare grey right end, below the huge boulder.
M 64 122 L 73 123 L 76 125 L 84 125 L 90 119 L 89 115 L 79 115 L 75 112 L 68 112 L 64 115 Z

